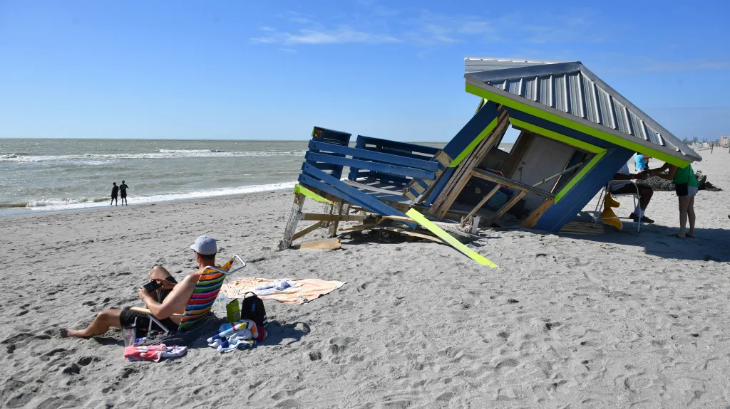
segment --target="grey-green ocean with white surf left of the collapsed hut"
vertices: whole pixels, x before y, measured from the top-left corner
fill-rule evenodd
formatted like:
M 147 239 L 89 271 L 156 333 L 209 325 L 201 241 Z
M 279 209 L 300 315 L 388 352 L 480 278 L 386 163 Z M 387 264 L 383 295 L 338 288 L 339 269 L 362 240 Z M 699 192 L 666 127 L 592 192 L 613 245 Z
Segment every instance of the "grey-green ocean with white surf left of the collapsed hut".
M 444 143 L 425 143 L 442 147 Z M 293 188 L 307 141 L 0 139 L 0 216 Z

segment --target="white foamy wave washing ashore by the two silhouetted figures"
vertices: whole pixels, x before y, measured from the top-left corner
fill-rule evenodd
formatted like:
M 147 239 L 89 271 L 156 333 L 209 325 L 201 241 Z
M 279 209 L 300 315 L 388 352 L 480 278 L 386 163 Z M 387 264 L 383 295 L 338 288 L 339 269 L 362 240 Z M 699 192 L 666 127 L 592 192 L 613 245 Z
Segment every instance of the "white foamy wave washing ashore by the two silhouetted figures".
M 128 196 L 131 204 L 145 204 L 152 202 L 167 202 L 169 200 L 182 199 L 203 199 L 215 196 L 230 196 L 234 194 L 256 193 L 260 191 L 275 191 L 286 188 L 293 188 L 296 182 L 269 183 L 265 185 L 239 186 L 235 188 L 215 188 L 201 191 L 172 192 L 166 194 L 153 194 L 150 196 Z M 28 202 L 0 202 L 0 208 L 24 207 L 26 210 L 34 211 L 58 211 L 76 210 L 89 207 L 104 207 L 109 197 L 80 197 L 77 199 L 38 199 Z

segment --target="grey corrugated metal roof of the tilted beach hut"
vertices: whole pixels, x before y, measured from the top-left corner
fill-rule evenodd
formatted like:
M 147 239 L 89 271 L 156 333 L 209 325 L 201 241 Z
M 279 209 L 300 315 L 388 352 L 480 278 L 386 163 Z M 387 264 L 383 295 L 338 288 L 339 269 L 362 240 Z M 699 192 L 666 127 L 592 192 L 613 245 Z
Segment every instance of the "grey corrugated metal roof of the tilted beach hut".
M 665 148 L 662 151 L 667 154 L 690 162 L 702 160 L 580 62 L 465 58 L 464 63 L 466 82 L 476 87 L 496 88 L 504 91 L 507 98 L 524 98 L 533 105 L 548 106 L 568 119 L 577 116 L 595 129 L 624 139 L 638 138 L 643 145 L 653 143 Z M 470 71 L 484 67 L 489 68 Z

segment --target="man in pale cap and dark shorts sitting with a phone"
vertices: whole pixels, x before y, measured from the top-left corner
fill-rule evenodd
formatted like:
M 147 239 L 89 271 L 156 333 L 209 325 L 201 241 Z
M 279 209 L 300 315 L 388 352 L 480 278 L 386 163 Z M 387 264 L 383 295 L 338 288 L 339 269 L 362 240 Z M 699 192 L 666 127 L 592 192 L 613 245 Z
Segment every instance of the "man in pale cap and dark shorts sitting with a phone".
M 181 282 L 170 275 L 163 266 L 154 266 L 150 271 L 150 279 L 146 285 L 138 289 L 141 299 L 147 309 L 166 327 L 177 327 L 180 324 L 179 317 L 172 314 L 183 314 L 188 306 L 193 290 L 200 279 L 204 269 L 208 266 L 220 267 L 215 263 L 215 254 L 218 253 L 218 246 L 215 239 L 210 236 L 201 236 L 190 246 L 195 252 L 198 263 L 198 271 L 189 274 Z M 83 330 L 70 330 L 61 328 L 61 337 L 88 338 L 94 335 L 106 333 L 110 327 L 129 327 L 135 325 L 137 330 L 147 330 L 150 319 L 144 314 L 137 314 L 126 309 L 105 309 Z M 169 325 L 169 326 L 168 326 Z

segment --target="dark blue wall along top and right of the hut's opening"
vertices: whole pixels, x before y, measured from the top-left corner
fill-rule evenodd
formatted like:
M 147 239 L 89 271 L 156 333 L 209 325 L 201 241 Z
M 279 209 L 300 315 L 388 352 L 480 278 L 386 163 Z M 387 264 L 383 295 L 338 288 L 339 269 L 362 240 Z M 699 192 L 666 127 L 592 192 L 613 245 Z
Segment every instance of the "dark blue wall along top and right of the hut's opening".
M 578 132 L 570 128 L 564 127 L 559 124 L 555 124 L 545 119 L 525 114 L 522 111 L 517 111 L 513 108 L 507 108 L 510 112 L 510 117 L 520 119 L 520 121 L 528 122 L 530 124 L 537 125 L 538 127 L 558 132 L 562 135 L 569 136 L 583 142 L 591 143 L 594 146 L 600 146 L 607 149 L 607 153 L 603 158 L 593 167 L 583 179 L 580 180 L 570 191 L 561 198 L 560 202 L 553 204 L 542 213 L 542 216 L 537 221 L 536 229 L 557 232 L 565 226 L 566 223 L 572 221 L 578 212 L 583 210 L 585 204 L 593 199 L 593 196 L 606 186 L 609 180 L 613 178 L 616 172 L 625 164 L 629 162 L 631 156 L 634 155 L 634 151 L 623 148 L 622 146 L 614 145 L 613 143 L 605 140 L 594 138 L 591 135 L 586 135 L 583 132 Z

